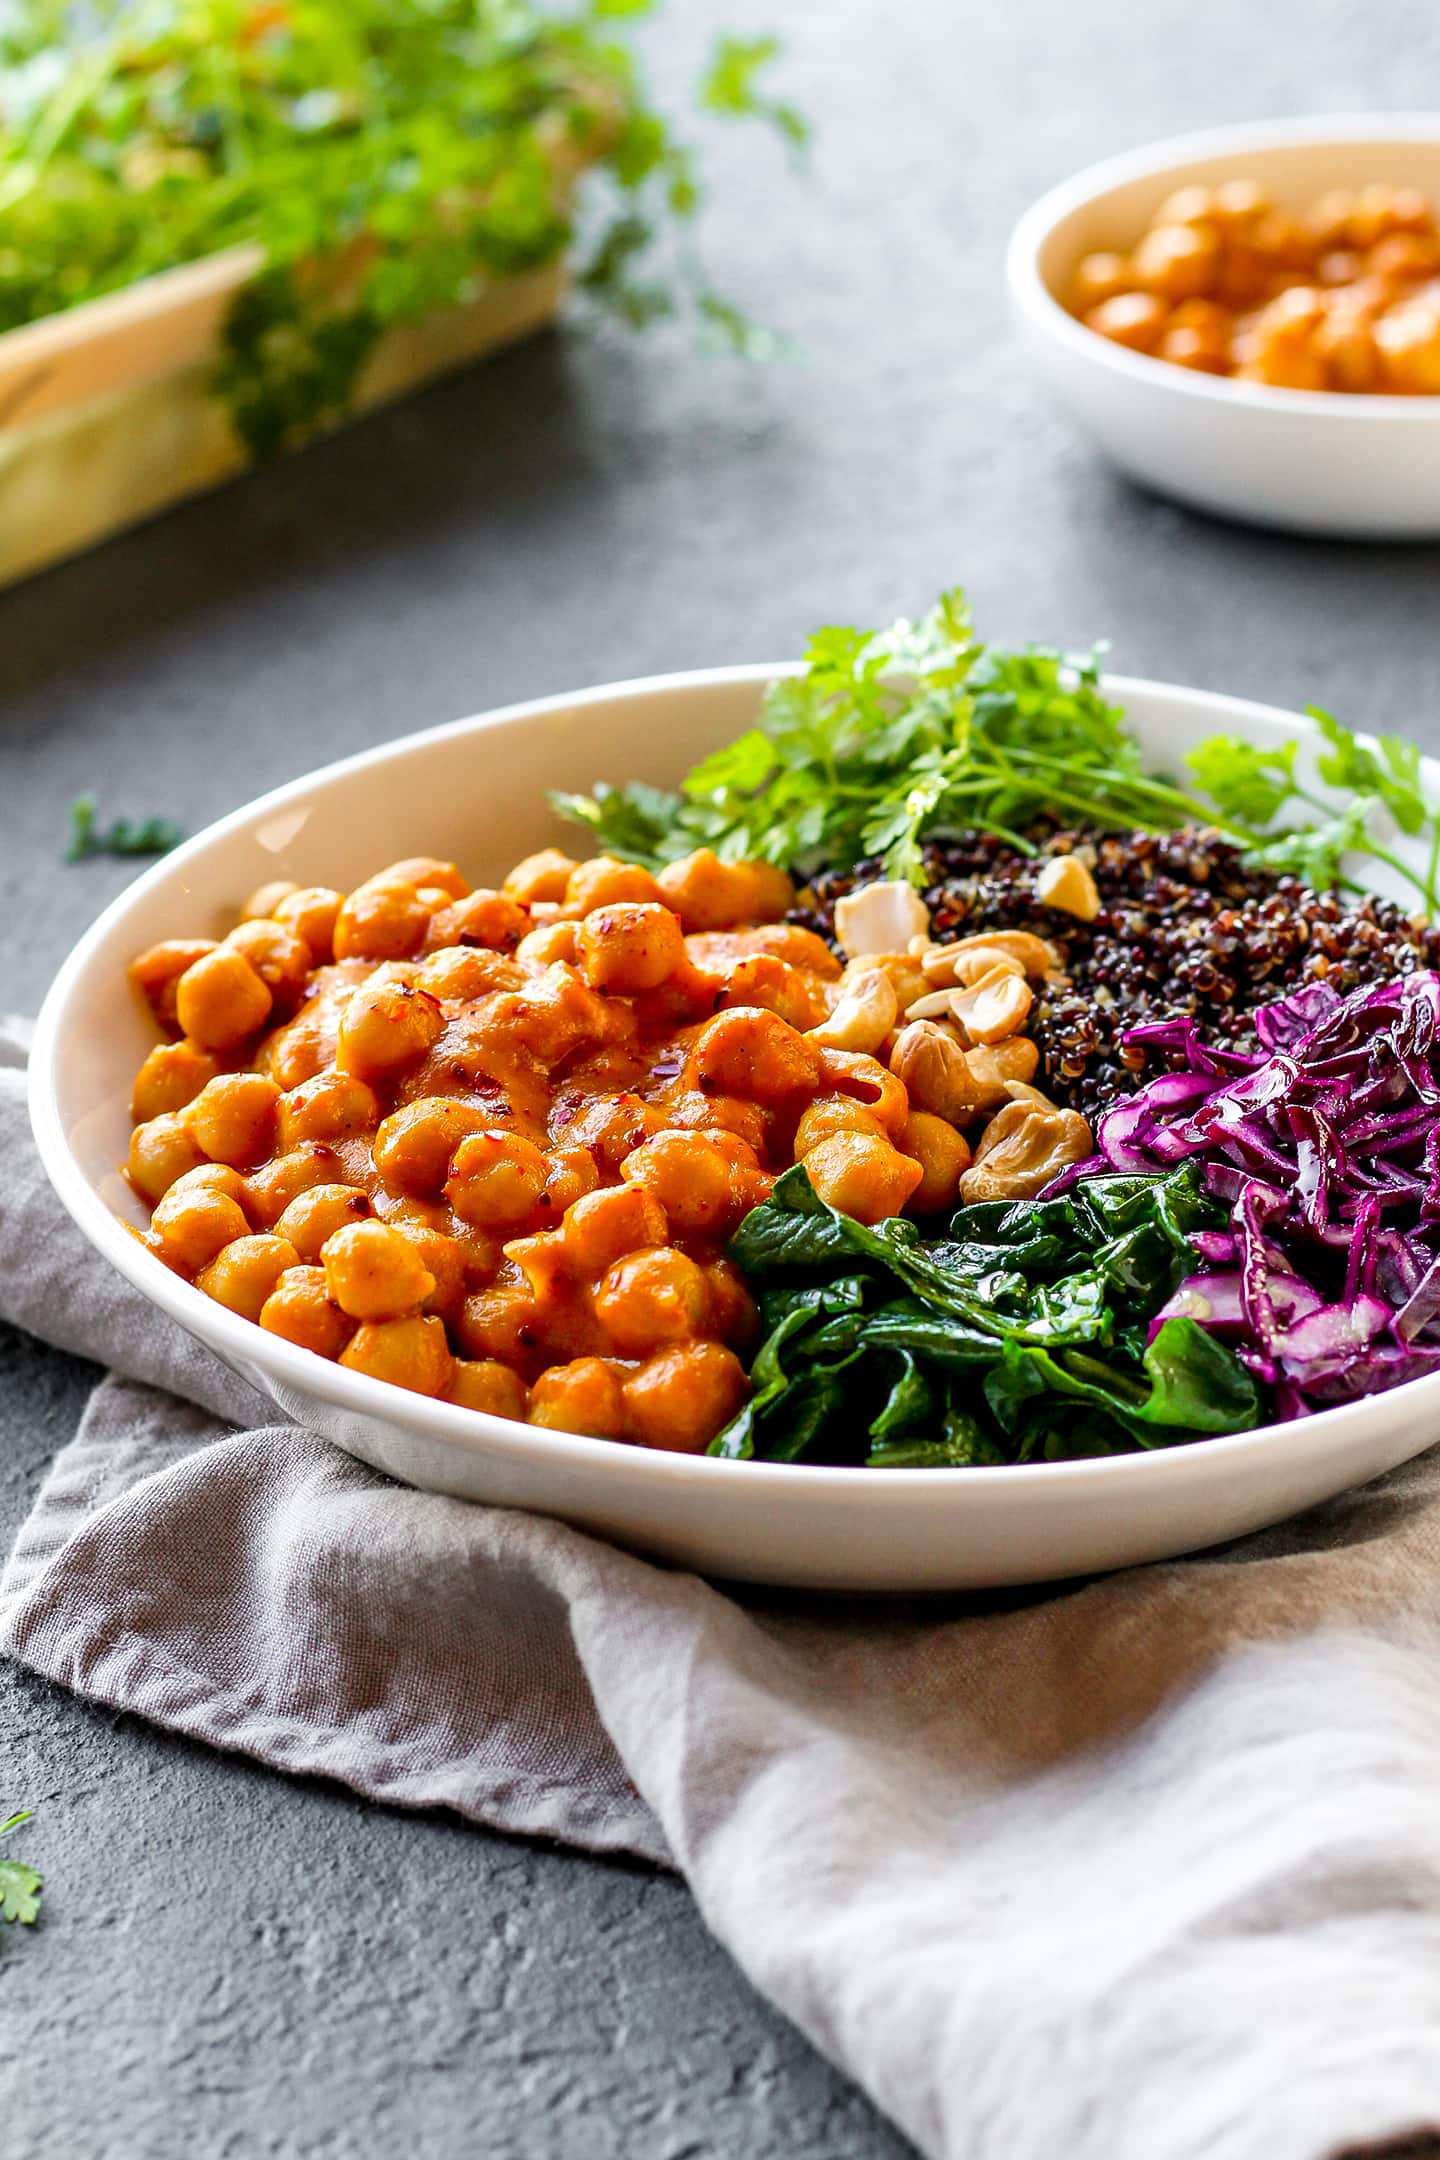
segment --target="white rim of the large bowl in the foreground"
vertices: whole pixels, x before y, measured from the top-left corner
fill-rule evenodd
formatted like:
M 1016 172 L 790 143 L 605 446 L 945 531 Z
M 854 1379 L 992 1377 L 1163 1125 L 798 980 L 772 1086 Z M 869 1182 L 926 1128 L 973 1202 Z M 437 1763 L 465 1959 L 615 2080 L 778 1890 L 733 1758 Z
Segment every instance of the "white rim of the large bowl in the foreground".
M 50 1184 L 76 1227 L 89 1238 L 101 1257 L 108 1259 L 117 1272 L 147 1298 L 147 1302 L 160 1307 L 160 1311 L 175 1320 L 188 1335 L 214 1354 L 220 1354 L 227 1363 L 231 1363 L 231 1369 L 240 1369 L 244 1374 L 246 1365 L 261 1365 L 302 1398 L 320 1395 L 332 1408 L 348 1410 L 378 1423 L 402 1426 L 423 1434 L 432 1443 L 453 1445 L 468 1454 L 475 1452 L 475 1441 L 484 1436 L 484 1445 L 490 1456 L 499 1460 L 531 1462 L 535 1447 L 542 1445 L 546 1456 L 555 1462 L 559 1477 L 563 1477 L 566 1471 L 592 1471 L 607 1467 L 613 1475 L 617 1493 L 635 1482 L 654 1486 L 654 1482 L 661 1480 L 680 1488 L 693 1482 L 706 1484 L 743 1475 L 751 1484 L 771 1482 L 790 1486 L 799 1480 L 801 1490 L 810 1486 L 816 1490 L 816 1497 L 820 1497 L 820 1493 L 840 1495 L 855 1488 L 868 1493 L 872 1497 L 872 1506 L 887 1508 L 909 1506 L 905 1495 L 976 1490 L 976 1480 L 980 1482 L 980 1493 L 1000 1497 L 1013 1488 L 1025 1490 L 1036 1477 L 1047 1477 L 1051 1490 L 1064 1488 L 1067 1484 L 1077 1488 L 1103 1482 L 1123 1484 L 1136 1475 L 1183 1477 L 1185 1469 L 1198 1458 L 1218 1460 L 1220 1456 L 1248 1456 L 1256 1447 L 1274 1449 L 1282 1447 L 1287 1439 L 1291 1443 L 1298 1436 L 1308 1439 L 1321 1428 L 1323 1434 L 1334 1441 L 1345 1428 L 1362 1426 L 1364 1419 L 1373 1415 L 1373 1398 L 1334 1404 L 1332 1408 L 1317 1410 L 1304 1419 L 1254 1426 L 1250 1432 L 1213 1434 L 1209 1439 L 1185 1441 L 1172 1447 L 1138 1449 L 1133 1454 L 1118 1456 L 1084 1456 L 1073 1462 L 980 1464 L 967 1469 L 959 1486 L 956 1471 L 950 1467 L 877 1471 L 866 1469 L 864 1464 L 764 1462 L 753 1458 L 730 1460 L 706 1454 L 691 1456 L 674 1454 L 669 1449 L 628 1447 L 617 1441 L 551 1430 L 544 1430 L 544 1439 L 538 1443 L 535 1426 L 494 1417 L 486 1410 L 471 1410 L 462 1404 L 440 1402 L 430 1395 L 417 1395 L 406 1389 L 395 1389 L 393 1385 L 376 1380 L 369 1374 L 350 1372 L 345 1365 L 322 1359 L 311 1350 L 302 1350 L 279 1335 L 268 1335 L 253 1320 L 231 1313 L 184 1277 L 173 1274 L 164 1261 L 149 1253 L 132 1233 L 130 1225 L 125 1225 L 121 1216 L 110 1210 L 101 1192 L 80 1169 L 60 1121 L 56 1091 L 56 1069 L 65 1054 L 67 1037 L 76 1026 L 80 1026 L 80 1013 L 71 1011 L 76 989 L 84 981 L 97 950 L 110 940 L 130 912 L 155 888 L 168 883 L 177 870 L 184 873 L 190 862 L 203 858 L 218 840 L 225 840 L 261 819 L 270 819 L 276 810 L 289 808 L 296 797 L 313 795 L 317 788 L 324 788 L 339 778 L 365 771 L 369 765 L 382 767 L 412 750 L 443 743 L 460 734 L 486 732 L 488 728 L 512 721 L 542 719 L 553 713 L 574 713 L 592 704 L 615 702 L 622 698 L 667 698 L 741 683 L 753 683 L 760 687 L 777 676 L 799 672 L 799 661 L 695 667 L 661 676 L 635 676 L 622 683 L 596 685 L 585 691 L 531 698 L 518 704 L 497 706 L 494 711 L 471 713 L 464 719 L 445 721 L 436 728 L 423 728 L 415 734 L 378 743 L 348 758 L 337 758 L 330 765 L 317 767 L 311 773 L 302 773 L 298 780 L 283 782 L 279 788 L 272 788 L 255 801 L 216 819 L 212 825 L 205 825 L 190 840 L 181 842 L 181 847 L 162 855 L 160 862 L 117 894 L 117 899 L 110 901 L 89 931 L 84 931 L 84 935 L 76 942 L 67 959 L 60 963 L 35 1024 L 28 1069 L 30 1123 L 45 1175 L 50 1177 Z M 1313 730 L 1310 721 L 1295 713 L 1287 713 L 1282 706 L 1259 704 L 1250 698 L 1231 698 L 1222 691 L 1198 691 L 1181 683 L 1159 683 L 1149 676 L 1108 674 L 1103 676 L 1103 687 L 1123 702 L 1136 696 L 1155 696 L 1161 700 L 1181 698 L 1190 702 L 1200 700 L 1220 719 L 1224 719 L 1224 715 L 1231 715 L 1233 719 L 1263 715 L 1269 721 L 1280 721 L 1287 732 L 1306 734 Z M 1427 1402 L 1440 1406 L 1440 1374 L 1408 1380 L 1405 1389 L 1416 1391 L 1416 1408 L 1421 1404 L 1421 1391 Z M 1399 1389 L 1393 1393 L 1399 1393 Z M 397 1402 L 397 1395 L 404 1400 Z M 1172 1462 L 1174 1469 L 1168 1473 L 1142 1469 L 1142 1464 L 1159 1462 Z

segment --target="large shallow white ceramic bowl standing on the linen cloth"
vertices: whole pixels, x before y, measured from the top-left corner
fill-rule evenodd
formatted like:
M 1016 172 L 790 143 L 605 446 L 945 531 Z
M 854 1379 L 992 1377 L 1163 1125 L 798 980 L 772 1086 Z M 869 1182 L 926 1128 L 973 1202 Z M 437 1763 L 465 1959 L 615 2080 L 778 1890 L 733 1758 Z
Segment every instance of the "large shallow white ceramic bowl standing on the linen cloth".
M 1118 1568 L 1235 1538 L 1360 1484 L 1440 1432 L 1440 1376 L 1265 1432 L 1028 1469 L 866 1471 L 719 1462 L 570 1439 L 427 1402 L 261 1333 L 171 1274 L 123 1227 L 130 1082 L 155 1039 L 125 961 L 229 927 L 266 879 L 352 886 L 399 855 L 477 879 L 561 838 L 546 786 L 674 782 L 756 713 L 773 667 L 661 676 L 512 706 L 391 743 L 212 825 L 106 909 L 60 970 L 35 1039 L 45 1169 L 86 1238 L 285 1417 L 408 1484 L 557 1514 L 710 1575 L 831 1590 L 956 1590 Z M 1256 743 L 1306 728 L 1267 706 L 1110 683 L 1157 765 L 1215 728 Z M 1440 788 L 1440 769 L 1427 769 Z

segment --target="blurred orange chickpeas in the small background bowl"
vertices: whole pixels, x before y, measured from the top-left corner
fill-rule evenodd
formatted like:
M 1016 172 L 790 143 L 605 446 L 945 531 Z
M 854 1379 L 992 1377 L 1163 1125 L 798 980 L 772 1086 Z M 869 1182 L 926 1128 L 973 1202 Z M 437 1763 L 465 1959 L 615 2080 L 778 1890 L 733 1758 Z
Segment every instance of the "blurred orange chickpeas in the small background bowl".
M 1211 376 L 1440 395 L 1440 225 L 1416 188 L 1332 190 L 1300 216 L 1250 179 L 1179 188 L 1129 253 L 1079 261 L 1069 307 Z

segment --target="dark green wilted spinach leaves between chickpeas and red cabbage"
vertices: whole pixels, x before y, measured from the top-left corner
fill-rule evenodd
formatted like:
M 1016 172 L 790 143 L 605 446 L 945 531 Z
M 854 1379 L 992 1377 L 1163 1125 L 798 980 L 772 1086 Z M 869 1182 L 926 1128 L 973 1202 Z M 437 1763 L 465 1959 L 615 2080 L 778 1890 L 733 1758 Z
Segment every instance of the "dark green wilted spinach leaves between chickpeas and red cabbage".
M 797 1164 L 730 1246 L 766 1335 L 710 1454 L 967 1467 L 1244 1432 L 1261 1402 L 1224 1344 L 1194 1320 L 1146 1339 L 1222 1218 L 1185 1164 L 963 1207 L 922 1242 L 838 1214 Z

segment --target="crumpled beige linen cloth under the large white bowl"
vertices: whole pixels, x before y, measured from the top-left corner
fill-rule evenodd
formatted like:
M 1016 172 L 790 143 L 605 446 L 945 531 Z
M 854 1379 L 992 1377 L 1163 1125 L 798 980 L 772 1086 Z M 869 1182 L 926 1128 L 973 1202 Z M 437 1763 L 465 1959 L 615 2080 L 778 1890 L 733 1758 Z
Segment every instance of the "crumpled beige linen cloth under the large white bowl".
M 1440 2151 L 1440 1452 L 1086 1588 L 736 1601 L 276 1423 L 60 1214 L 9 1063 L 0 1313 L 110 1376 L 0 1579 L 6 1655 L 680 1868 L 924 2154 Z

